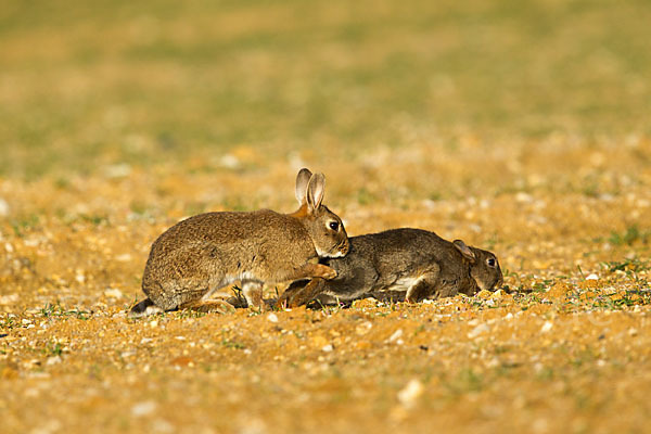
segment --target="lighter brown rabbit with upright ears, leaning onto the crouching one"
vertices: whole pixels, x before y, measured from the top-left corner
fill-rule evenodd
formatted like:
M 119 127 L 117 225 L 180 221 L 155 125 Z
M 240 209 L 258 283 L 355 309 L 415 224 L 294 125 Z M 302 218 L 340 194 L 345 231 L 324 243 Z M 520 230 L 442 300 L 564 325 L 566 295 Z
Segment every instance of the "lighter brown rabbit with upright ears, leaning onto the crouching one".
M 349 243 L 341 218 L 321 204 L 324 186 L 322 174 L 303 168 L 296 177 L 299 207 L 292 214 L 206 213 L 167 229 L 152 244 L 144 267 L 148 298 L 130 316 L 177 308 L 220 311 L 226 302 L 210 295 L 235 281 L 247 305 L 263 310 L 265 283 L 333 279 L 336 271 L 318 258 L 342 257 Z

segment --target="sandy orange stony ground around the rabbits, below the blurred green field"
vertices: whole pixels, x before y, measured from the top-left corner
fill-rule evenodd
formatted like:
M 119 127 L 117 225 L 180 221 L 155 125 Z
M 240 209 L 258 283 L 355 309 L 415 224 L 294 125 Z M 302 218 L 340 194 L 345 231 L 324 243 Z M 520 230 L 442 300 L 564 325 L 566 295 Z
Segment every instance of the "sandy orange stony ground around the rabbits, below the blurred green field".
M 296 155 L 243 170 L 2 180 L 2 431 L 643 432 L 649 149 L 523 145 L 503 161 L 469 148 L 434 162 L 414 145 L 327 162 L 326 202 L 349 234 L 412 226 L 462 238 L 498 255 L 505 289 L 136 320 L 125 309 L 142 298 L 157 234 L 192 210 L 292 210 Z M 255 163 L 245 151 L 231 156 Z

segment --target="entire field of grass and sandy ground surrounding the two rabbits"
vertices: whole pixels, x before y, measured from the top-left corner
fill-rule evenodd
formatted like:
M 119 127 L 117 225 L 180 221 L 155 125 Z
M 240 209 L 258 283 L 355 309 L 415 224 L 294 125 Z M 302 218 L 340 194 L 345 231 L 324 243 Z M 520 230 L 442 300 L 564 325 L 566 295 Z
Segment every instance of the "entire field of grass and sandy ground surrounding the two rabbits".
M 647 2 L 177 3 L 0 13 L 0 431 L 648 430 Z M 304 165 L 508 291 L 125 317 L 165 228 Z

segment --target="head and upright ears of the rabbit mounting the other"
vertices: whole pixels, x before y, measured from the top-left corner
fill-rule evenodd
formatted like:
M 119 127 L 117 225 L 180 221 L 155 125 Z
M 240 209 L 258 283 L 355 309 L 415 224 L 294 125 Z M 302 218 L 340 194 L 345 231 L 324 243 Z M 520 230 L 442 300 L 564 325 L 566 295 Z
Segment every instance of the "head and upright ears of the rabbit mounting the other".
M 301 207 L 294 217 L 303 222 L 320 257 L 342 257 L 350 244 L 342 219 L 321 204 L 324 188 L 323 174 L 301 169 L 296 177 L 296 200 Z

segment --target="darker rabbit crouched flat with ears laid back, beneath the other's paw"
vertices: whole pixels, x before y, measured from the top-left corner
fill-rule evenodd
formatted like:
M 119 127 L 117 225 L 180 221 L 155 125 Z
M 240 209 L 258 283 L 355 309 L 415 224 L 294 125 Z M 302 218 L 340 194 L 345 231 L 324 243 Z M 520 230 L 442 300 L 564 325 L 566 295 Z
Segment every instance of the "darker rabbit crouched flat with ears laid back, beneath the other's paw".
M 493 253 L 426 230 L 392 229 L 352 237 L 349 242 L 345 257 L 321 260 L 336 270 L 336 278 L 293 282 L 277 303 L 295 307 L 312 299 L 328 304 L 368 296 L 417 303 L 458 293 L 473 295 L 503 282 Z

